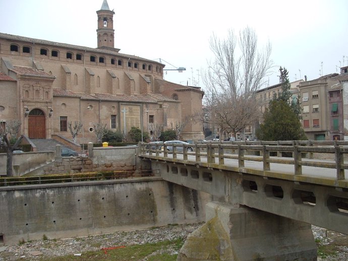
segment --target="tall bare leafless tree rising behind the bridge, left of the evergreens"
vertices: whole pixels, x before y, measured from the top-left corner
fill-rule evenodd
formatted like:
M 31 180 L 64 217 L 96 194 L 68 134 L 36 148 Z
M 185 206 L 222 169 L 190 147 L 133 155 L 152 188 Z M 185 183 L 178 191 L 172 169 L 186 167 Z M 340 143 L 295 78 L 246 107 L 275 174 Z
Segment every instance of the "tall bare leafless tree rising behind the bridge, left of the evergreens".
M 204 102 L 211 114 L 209 124 L 222 125 L 236 136 L 260 118 L 256 91 L 272 68 L 271 45 L 258 51 L 255 31 L 247 27 L 240 31 L 239 38 L 231 30 L 226 40 L 213 35 L 210 49 L 214 60 L 202 73 Z

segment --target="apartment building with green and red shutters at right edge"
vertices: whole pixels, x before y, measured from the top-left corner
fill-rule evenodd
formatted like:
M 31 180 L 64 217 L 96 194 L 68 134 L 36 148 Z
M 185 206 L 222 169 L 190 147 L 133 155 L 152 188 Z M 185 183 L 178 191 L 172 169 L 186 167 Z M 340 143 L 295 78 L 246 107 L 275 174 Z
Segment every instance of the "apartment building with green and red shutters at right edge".
M 309 140 L 343 140 L 347 135 L 347 69 L 300 83 L 302 123 Z

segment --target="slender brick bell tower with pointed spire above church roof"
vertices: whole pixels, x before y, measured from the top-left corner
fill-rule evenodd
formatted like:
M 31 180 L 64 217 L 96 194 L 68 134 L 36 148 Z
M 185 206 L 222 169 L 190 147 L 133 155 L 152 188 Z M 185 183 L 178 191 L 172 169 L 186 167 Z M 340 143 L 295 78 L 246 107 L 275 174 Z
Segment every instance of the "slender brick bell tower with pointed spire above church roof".
M 104 0 L 101 8 L 97 11 L 98 15 L 98 48 L 114 48 L 113 15 L 107 1 Z

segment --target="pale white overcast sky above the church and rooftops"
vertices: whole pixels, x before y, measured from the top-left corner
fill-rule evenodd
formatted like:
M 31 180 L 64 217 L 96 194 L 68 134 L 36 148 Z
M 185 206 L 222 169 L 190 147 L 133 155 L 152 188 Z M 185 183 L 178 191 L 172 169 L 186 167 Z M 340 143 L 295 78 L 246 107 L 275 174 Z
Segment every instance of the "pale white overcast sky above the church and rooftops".
M 102 0 L 0 0 L 0 32 L 81 46 L 97 46 Z M 200 71 L 211 59 L 209 38 L 225 38 L 246 26 L 259 46 L 272 44 L 273 74 L 279 66 L 291 82 L 339 73 L 348 66 L 348 1 L 108 0 L 114 10 L 115 48 L 167 64 L 164 79 L 202 86 Z M 344 60 L 343 60 L 344 56 Z M 168 64 L 169 63 L 169 64 Z M 171 65 L 170 65 L 171 64 Z M 301 78 L 300 78 L 301 77 Z M 263 86 L 266 87 L 266 86 Z

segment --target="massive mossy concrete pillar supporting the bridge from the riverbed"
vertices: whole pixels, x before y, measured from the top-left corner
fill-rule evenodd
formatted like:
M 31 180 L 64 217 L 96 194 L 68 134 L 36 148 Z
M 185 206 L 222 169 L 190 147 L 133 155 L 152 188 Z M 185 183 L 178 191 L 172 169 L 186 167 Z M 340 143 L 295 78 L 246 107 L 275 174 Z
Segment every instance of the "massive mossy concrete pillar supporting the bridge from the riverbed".
M 178 255 L 195 260 L 317 260 L 311 225 L 248 207 L 210 202 L 206 223 Z

